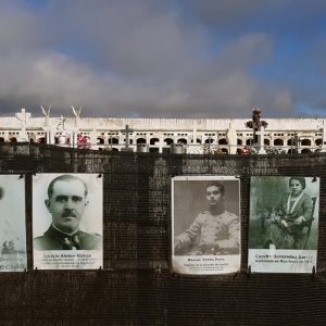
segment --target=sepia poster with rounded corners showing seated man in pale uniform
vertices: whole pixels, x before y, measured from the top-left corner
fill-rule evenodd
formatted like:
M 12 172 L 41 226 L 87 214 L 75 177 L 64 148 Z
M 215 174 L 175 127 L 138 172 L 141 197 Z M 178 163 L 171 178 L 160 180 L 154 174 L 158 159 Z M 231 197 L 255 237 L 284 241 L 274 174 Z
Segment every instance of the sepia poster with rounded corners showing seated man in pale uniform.
M 189 274 L 238 271 L 239 180 L 233 176 L 175 177 L 172 199 L 175 269 Z M 198 265 L 190 258 L 196 258 Z

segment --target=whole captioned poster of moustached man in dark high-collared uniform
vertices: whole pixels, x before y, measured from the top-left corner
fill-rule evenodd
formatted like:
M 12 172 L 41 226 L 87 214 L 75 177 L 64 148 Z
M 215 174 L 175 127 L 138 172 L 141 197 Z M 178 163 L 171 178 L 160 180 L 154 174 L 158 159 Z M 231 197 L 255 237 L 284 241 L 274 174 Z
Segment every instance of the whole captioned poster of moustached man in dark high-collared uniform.
M 34 176 L 35 267 L 74 269 L 102 266 L 102 177 L 97 174 Z M 62 253 L 58 254 L 58 251 Z

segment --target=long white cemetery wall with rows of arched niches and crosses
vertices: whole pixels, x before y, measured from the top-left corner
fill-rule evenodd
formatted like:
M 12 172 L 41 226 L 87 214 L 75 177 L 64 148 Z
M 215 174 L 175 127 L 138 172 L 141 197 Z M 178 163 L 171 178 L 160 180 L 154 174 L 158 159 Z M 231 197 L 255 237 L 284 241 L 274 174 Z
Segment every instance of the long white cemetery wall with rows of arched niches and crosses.
M 45 113 L 45 112 L 43 112 Z M 74 111 L 74 114 L 76 112 Z M 80 113 L 80 112 L 79 112 Z M 30 141 L 66 147 L 121 151 L 168 152 L 174 145 L 187 153 L 235 152 L 253 143 L 250 118 L 116 118 L 33 117 L 25 109 L 0 117 L 0 142 Z M 326 118 L 264 118 L 261 146 L 301 153 L 326 149 Z M 126 133 L 126 126 L 129 130 Z M 233 130 L 235 140 L 227 135 Z M 255 146 L 256 147 L 256 146 Z

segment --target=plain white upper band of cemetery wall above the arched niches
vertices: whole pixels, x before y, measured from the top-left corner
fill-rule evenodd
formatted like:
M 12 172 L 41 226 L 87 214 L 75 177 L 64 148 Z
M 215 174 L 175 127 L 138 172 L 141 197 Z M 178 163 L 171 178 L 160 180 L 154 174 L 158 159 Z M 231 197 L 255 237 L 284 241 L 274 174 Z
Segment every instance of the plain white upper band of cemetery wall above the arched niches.
M 75 125 L 75 117 L 65 117 L 65 125 L 72 128 Z M 237 130 L 250 130 L 244 127 L 244 123 L 250 118 L 120 118 L 120 117 L 80 117 L 78 125 L 82 129 L 108 129 L 121 130 L 129 125 L 137 130 L 226 130 L 229 123 L 234 124 Z M 324 118 L 269 118 L 264 117 L 268 122 L 268 130 L 318 130 L 325 125 Z M 15 116 L 0 116 L 0 129 L 21 129 L 21 123 Z M 60 116 L 49 117 L 51 126 L 58 125 Z M 26 127 L 27 129 L 39 129 L 45 126 L 46 117 L 30 116 Z

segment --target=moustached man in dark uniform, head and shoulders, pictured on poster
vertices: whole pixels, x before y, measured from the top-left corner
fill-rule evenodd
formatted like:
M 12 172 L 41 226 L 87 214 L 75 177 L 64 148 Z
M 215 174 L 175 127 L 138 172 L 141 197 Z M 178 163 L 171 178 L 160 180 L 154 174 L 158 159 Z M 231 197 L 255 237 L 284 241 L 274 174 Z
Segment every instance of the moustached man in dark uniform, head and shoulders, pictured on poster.
M 34 249 L 101 250 L 102 236 L 80 228 L 89 204 L 89 189 L 85 177 L 62 174 L 52 178 L 43 201 L 51 223 L 42 235 L 34 238 Z M 96 217 L 93 220 L 96 222 Z

